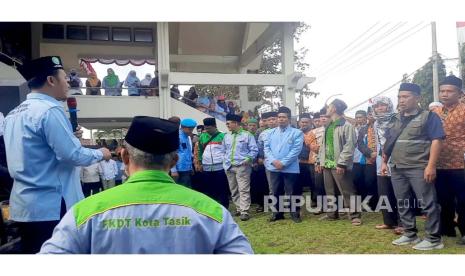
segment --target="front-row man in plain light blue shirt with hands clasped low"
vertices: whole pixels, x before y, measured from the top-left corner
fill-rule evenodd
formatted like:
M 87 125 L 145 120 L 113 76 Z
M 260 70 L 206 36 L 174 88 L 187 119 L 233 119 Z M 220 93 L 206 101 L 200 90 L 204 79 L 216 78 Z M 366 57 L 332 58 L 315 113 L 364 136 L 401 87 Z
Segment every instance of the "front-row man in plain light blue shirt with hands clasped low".
M 290 125 L 291 110 L 280 107 L 278 110 L 279 127 L 269 130 L 265 140 L 265 167 L 270 171 L 275 210 L 270 221 L 284 219 L 280 208 L 279 197 L 291 196 L 291 219 L 300 223 L 300 208 L 292 203 L 292 196 L 301 196 L 302 189 L 298 187 L 299 178 L 299 154 L 304 142 L 304 134 L 301 130 Z

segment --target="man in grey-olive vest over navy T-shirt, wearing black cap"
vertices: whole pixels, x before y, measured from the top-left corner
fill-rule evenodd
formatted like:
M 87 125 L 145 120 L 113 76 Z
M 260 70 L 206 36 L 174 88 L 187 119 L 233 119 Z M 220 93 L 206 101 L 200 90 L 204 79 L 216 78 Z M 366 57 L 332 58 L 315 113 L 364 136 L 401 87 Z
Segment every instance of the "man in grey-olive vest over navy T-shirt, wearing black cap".
M 413 83 L 400 85 L 398 99 L 400 114 L 387 133 L 383 154 L 383 172 L 387 173 L 390 157 L 392 185 L 397 198 L 404 234 L 392 242 L 394 245 L 413 244 L 416 250 L 442 249 L 440 234 L 440 206 L 437 203 L 436 162 L 441 152 L 445 133 L 436 113 L 419 108 L 421 89 Z M 426 236 L 417 236 L 415 213 L 409 198 L 415 193 L 417 202 L 427 216 Z

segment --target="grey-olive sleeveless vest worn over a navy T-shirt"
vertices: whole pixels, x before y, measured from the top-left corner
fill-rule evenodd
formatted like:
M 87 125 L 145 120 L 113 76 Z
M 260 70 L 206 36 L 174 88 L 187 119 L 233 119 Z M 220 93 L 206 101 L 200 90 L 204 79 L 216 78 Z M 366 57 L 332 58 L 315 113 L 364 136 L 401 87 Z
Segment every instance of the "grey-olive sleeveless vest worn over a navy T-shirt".
M 391 155 L 391 164 L 399 169 L 426 168 L 429 160 L 431 140 L 426 131 L 429 111 L 420 110 L 418 116 L 412 119 L 397 139 Z M 400 129 L 400 118 L 393 128 Z

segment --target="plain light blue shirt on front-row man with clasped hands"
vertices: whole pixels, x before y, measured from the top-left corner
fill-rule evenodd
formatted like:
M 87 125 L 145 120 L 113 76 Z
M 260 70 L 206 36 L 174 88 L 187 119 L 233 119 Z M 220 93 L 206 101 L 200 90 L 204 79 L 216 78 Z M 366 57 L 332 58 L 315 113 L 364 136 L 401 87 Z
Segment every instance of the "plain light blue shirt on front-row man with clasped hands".
M 285 129 L 273 128 L 265 139 L 265 167 L 272 172 L 299 173 L 299 154 L 302 150 L 304 134 L 290 125 Z M 279 160 L 282 170 L 277 170 L 272 164 Z

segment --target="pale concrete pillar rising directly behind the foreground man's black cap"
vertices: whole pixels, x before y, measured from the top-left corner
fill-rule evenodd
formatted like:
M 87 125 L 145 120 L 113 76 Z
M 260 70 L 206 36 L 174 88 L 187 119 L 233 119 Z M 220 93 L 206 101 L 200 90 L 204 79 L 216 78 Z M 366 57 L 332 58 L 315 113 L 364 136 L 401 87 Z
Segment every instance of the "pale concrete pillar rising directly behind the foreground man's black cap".
M 158 77 L 159 77 L 159 109 L 161 118 L 171 117 L 170 97 L 170 47 L 169 47 L 168 22 L 157 23 L 157 53 L 158 53 Z

